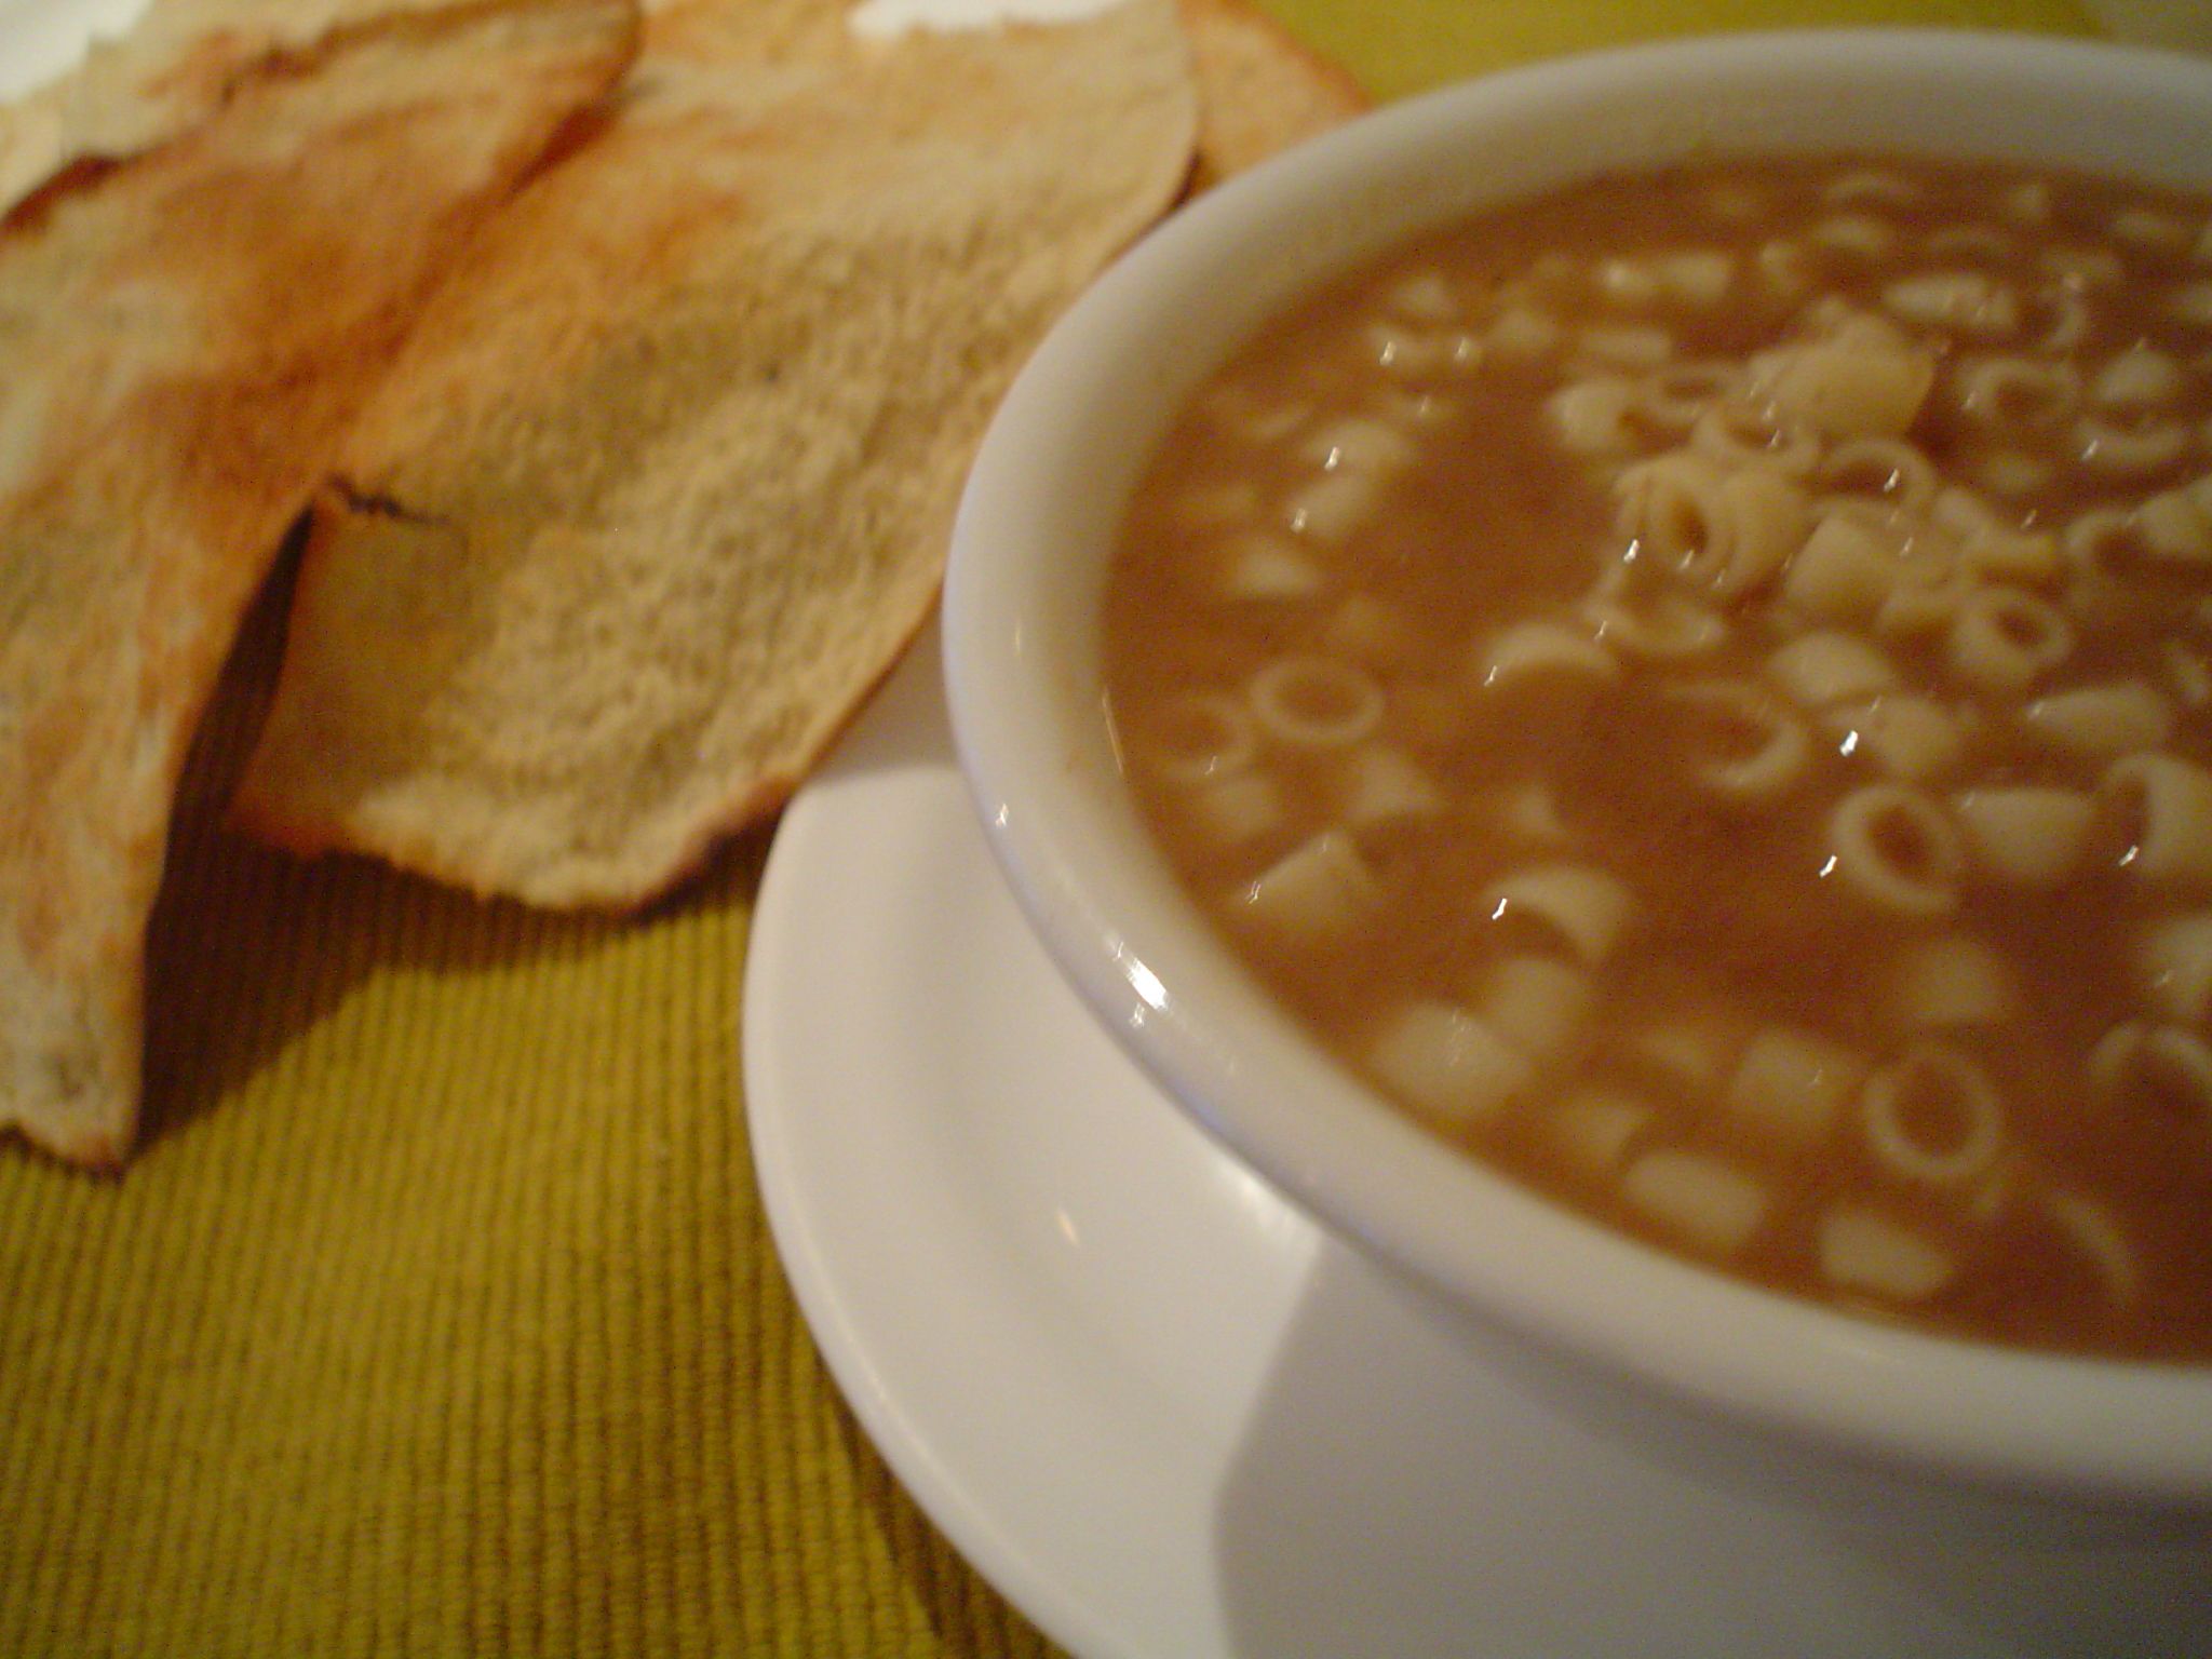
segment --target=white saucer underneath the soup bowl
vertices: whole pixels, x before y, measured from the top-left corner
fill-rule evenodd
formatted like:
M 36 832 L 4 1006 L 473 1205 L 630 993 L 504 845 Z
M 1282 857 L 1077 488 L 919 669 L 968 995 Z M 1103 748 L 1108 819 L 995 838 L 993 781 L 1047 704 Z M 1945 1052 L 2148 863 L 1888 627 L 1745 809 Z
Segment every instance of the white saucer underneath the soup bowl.
M 931 633 L 792 805 L 745 982 L 770 1223 L 845 1396 L 1079 1655 L 2205 1655 L 2212 1544 L 1849 1533 L 1692 1482 L 1321 1234 L 1000 885 Z

